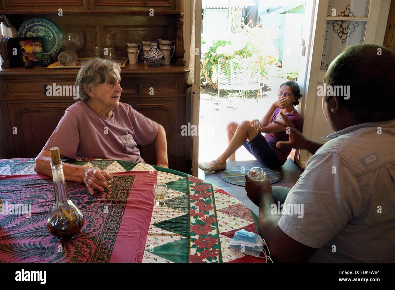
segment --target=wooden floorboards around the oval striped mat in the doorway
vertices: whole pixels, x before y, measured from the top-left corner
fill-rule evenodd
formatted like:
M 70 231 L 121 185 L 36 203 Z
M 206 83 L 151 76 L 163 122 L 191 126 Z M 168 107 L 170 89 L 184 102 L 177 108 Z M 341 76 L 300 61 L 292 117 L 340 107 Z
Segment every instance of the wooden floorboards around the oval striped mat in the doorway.
M 254 165 L 256 161 L 228 161 L 228 167 L 234 166 L 248 166 Z M 296 181 L 299 179 L 300 174 L 303 172 L 295 163 L 292 162 L 291 159 L 287 159 L 286 163 L 281 167 L 282 170 L 282 178 L 276 183 L 272 184 L 272 186 L 284 186 L 284 187 L 293 187 Z M 251 200 L 247 197 L 245 187 L 240 185 L 234 185 L 222 180 L 218 174 L 215 172 L 207 172 L 203 171 L 199 168 L 199 176 L 200 179 L 206 180 L 211 184 L 214 184 L 221 189 L 224 189 L 230 195 L 233 195 L 235 198 L 243 202 L 248 208 L 250 208 L 256 215 L 259 214 L 259 208 L 255 204 L 251 202 Z

